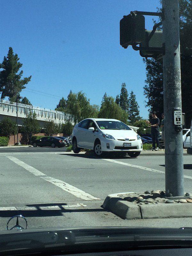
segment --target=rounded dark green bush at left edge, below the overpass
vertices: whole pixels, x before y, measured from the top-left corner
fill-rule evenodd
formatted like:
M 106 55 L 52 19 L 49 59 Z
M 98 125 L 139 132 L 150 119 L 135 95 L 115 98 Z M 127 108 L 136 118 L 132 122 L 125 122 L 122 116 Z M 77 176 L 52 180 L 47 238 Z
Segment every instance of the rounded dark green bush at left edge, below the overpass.
M 0 121 L 0 134 L 4 136 L 15 135 L 17 133 L 17 124 L 9 117 L 4 117 Z

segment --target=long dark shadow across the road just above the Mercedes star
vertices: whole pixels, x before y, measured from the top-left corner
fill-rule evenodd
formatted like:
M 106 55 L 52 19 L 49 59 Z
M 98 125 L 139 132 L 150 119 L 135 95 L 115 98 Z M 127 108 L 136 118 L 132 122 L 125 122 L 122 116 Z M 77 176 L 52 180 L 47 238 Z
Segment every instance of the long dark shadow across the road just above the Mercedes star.
M 26 204 L 22 207 L 17 207 L 18 210 L 10 211 L 0 211 L 1 218 L 5 217 L 12 217 L 15 215 L 22 215 L 24 217 L 49 217 L 49 216 L 63 216 L 63 213 L 66 212 L 108 212 L 103 208 L 93 208 L 93 209 L 86 209 L 86 208 L 80 208 L 80 209 L 65 209 L 65 205 L 67 204 Z M 56 206 L 60 209 L 50 209 L 49 206 Z M 22 208 L 25 207 L 26 210 L 22 210 Z M 27 207 L 29 207 L 29 210 L 27 210 Z M 36 209 L 30 210 L 30 207 L 34 207 Z M 47 207 L 47 209 L 42 209 L 41 207 Z M 20 210 L 20 209 L 21 210 Z

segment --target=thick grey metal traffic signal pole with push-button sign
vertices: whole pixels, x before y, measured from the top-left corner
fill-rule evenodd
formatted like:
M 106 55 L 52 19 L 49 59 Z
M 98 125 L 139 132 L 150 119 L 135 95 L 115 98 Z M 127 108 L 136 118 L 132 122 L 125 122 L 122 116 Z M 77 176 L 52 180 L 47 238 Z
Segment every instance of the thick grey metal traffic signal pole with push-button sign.
M 179 115 L 182 111 L 179 0 L 163 0 L 162 8 L 165 44 L 163 56 L 165 190 L 166 195 L 171 193 L 172 196 L 184 196 L 182 123 L 176 123 L 180 117 L 174 118 L 176 115 L 174 111 Z

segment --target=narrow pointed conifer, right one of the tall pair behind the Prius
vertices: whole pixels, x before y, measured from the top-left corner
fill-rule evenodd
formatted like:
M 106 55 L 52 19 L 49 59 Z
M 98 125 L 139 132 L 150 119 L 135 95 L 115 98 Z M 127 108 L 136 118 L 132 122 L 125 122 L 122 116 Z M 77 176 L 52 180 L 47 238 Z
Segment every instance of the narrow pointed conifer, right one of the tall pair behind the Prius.
M 130 97 L 129 97 L 129 121 L 131 124 L 133 124 L 135 121 L 140 120 L 141 117 L 139 116 L 139 105 L 136 101 L 136 96 L 131 91 Z

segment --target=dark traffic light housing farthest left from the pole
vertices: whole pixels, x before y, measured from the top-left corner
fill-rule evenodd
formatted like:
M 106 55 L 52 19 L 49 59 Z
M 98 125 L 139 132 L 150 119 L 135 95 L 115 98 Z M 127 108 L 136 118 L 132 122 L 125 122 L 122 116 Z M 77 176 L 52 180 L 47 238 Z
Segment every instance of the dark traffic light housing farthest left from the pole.
M 145 40 L 145 17 L 131 12 L 120 20 L 120 44 L 125 49 L 128 45 L 140 44 Z

